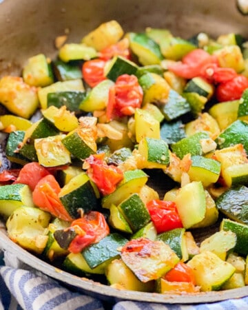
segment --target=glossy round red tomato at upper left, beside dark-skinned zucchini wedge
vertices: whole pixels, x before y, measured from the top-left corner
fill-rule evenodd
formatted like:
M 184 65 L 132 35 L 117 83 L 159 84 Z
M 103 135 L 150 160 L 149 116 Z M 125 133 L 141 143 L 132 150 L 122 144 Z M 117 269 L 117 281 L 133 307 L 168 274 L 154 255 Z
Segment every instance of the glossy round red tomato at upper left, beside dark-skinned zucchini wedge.
M 106 61 L 103 59 L 92 59 L 83 63 L 83 79 L 90 87 L 94 87 L 106 79 L 104 76 L 105 64 Z

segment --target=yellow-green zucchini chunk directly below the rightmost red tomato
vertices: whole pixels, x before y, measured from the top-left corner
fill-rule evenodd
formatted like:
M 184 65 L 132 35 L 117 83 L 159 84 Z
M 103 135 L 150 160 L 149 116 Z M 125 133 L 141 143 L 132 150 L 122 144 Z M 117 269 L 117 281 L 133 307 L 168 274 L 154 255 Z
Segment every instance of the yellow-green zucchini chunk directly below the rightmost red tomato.
M 220 130 L 225 130 L 231 123 L 236 121 L 238 118 L 239 105 L 240 101 L 234 100 L 216 103 L 210 107 L 209 114 L 216 119 Z

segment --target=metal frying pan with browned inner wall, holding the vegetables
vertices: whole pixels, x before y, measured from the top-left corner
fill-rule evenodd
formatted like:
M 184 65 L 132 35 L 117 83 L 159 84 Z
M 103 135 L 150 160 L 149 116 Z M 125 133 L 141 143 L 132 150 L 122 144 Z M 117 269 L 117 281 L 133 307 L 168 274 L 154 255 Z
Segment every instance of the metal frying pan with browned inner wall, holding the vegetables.
M 44 53 L 54 57 L 54 39 L 69 32 L 68 42 L 78 42 L 99 24 L 116 19 L 125 31 L 145 27 L 168 28 L 185 39 L 197 32 L 213 37 L 236 32 L 248 38 L 248 17 L 240 14 L 235 0 L 0 0 L 0 76 L 21 73 L 28 57 Z M 0 247 L 26 264 L 65 285 L 103 300 L 147 302 L 214 302 L 248 295 L 248 287 L 193 295 L 121 291 L 52 267 L 15 245 L 0 223 Z

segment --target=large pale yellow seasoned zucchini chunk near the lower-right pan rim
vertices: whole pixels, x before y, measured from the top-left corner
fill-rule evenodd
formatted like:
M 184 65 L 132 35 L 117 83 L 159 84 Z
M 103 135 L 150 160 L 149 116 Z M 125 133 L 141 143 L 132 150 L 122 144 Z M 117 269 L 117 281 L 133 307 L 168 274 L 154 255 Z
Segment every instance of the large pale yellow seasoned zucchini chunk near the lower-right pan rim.
M 203 251 L 189 262 L 200 291 L 218 291 L 235 272 L 235 267 L 221 260 L 211 251 Z

